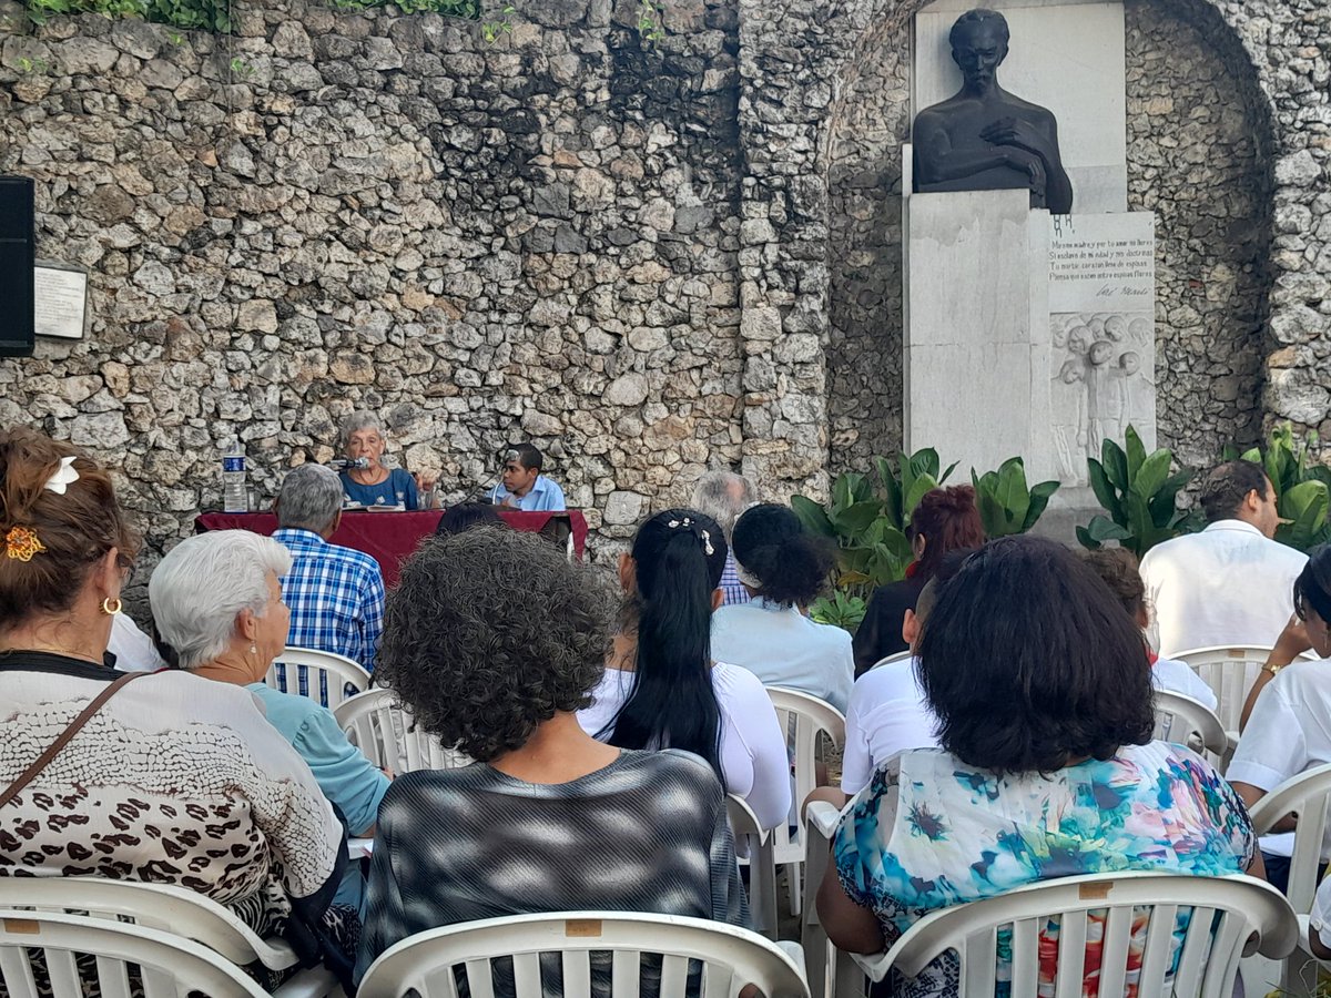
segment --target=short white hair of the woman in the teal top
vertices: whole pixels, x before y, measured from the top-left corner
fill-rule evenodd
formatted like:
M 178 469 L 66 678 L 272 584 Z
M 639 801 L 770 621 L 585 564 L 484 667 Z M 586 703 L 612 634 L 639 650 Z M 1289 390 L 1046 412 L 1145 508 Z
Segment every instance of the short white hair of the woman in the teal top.
M 166 552 L 148 582 L 157 633 L 174 648 L 182 669 L 216 661 L 232 643 L 240 612 L 264 613 L 268 574 L 290 570 L 290 551 L 248 530 L 186 538 Z

